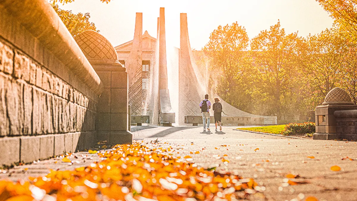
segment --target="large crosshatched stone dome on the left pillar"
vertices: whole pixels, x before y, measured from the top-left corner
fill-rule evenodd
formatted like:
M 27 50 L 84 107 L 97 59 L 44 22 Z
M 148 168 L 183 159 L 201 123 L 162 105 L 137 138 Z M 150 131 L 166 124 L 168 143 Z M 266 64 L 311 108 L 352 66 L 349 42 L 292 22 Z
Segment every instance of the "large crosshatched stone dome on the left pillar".
M 74 38 L 87 59 L 118 60 L 113 45 L 100 33 L 86 30 Z

